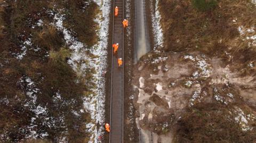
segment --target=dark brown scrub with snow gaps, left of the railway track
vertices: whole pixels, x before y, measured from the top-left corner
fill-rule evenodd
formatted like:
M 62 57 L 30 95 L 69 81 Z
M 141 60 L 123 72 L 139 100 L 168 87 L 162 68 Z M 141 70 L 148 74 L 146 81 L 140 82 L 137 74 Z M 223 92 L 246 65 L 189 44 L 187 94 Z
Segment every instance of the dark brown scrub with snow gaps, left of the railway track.
M 3 1 L 0 1 L 0 4 Z M 89 46 L 97 42 L 93 21 L 97 14 L 97 5 L 90 3 L 91 9 L 84 9 L 84 1 L 5 1 L 0 7 L 0 99 L 7 98 L 9 103 L 0 101 L 2 112 L 0 114 L 0 142 L 19 142 L 25 138 L 29 131 L 25 128 L 30 125 L 31 112 L 23 105 L 26 103 L 27 83 L 17 85 L 23 77 L 30 77 L 40 90 L 37 95 L 37 104 L 45 106 L 49 116 L 57 119 L 60 115 L 65 117 L 67 128 L 61 127 L 56 121 L 55 128 L 49 128 L 43 121 L 36 123 L 38 129 L 49 133 L 45 140 L 26 140 L 25 142 L 57 142 L 63 131 L 69 132 L 69 142 L 87 142 L 89 134 L 86 132 L 86 123 L 91 117 L 88 113 L 74 115 L 73 111 L 83 108 L 82 97 L 93 87 L 91 69 L 84 73 L 86 81 L 78 81 L 75 71 L 67 63 L 70 51 L 67 49 L 63 34 L 50 23 L 53 17 L 46 10 L 53 11 L 53 5 L 59 9 L 68 9 L 66 18 L 67 28 L 74 30 L 74 35 Z M 71 5 L 72 6 L 71 6 Z M 70 5 L 70 7 L 69 7 Z M 94 10 L 95 9 L 95 10 Z M 74 16 L 78 15 L 76 18 Z M 74 20 L 75 19 L 75 20 Z M 84 20 L 87 20 L 86 22 Z M 36 26 L 38 20 L 43 26 Z M 77 24 L 77 22 L 80 22 Z M 89 23 L 88 23 L 89 22 Z M 35 26 L 32 28 L 32 26 Z M 87 29 L 87 31 L 86 31 Z M 27 46 L 26 56 L 17 60 L 13 54 L 21 52 L 24 41 L 31 38 L 31 46 Z M 38 51 L 35 47 L 39 48 Z M 85 85 L 84 85 L 85 84 Z M 54 103 L 53 96 L 61 95 L 65 102 Z M 26 116 L 24 116 L 26 115 Z M 21 132 L 21 129 L 25 129 Z

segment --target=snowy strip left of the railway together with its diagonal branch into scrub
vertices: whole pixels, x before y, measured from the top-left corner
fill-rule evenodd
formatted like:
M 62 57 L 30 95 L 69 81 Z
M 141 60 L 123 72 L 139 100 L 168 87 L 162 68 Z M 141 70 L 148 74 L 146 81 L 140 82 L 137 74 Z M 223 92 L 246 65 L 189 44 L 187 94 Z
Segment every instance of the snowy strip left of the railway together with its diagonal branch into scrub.
M 94 0 L 100 7 L 101 13 L 94 19 L 99 24 L 97 35 L 99 42 L 93 46 L 91 51 L 93 57 L 86 54 L 86 45 L 78 41 L 71 35 L 71 31 L 63 27 L 63 20 L 65 15 L 55 14 L 55 26 L 58 30 L 63 32 L 66 44 L 73 51 L 71 60 L 68 63 L 79 75 L 83 75 L 83 71 L 87 68 L 94 69 L 96 72 L 93 74 L 93 82 L 97 87 L 93 90 L 93 93 L 84 97 L 84 108 L 91 114 L 92 122 L 87 124 L 87 131 L 91 133 L 89 142 L 98 142 L 98 137 L 102 136 L 105 121 L 105 78 L 102 77 L 106 71 L 107 66 L 107 44 L 108 44 L 108 28 L 109 28 L 109 13 L 110 13 L 110 1 Z M 81 61 L 87 61 L 81 63 Z M 78 65 L 81 64 L 81 65 Z M 99 130 L 96 128 L 96 124 L 99 123 L 101 127 Z

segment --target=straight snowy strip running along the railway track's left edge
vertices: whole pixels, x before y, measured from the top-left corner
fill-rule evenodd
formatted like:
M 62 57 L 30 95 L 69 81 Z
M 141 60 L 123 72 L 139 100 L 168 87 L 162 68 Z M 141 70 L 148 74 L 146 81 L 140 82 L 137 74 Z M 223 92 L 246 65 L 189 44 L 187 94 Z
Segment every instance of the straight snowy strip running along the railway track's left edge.
M 98 138 L 99 136 L 103 135 L 103 125 L 105 124 L 105 77 L 102 77 L 102 75 L 105 73 L 107 68 L 107 44 L 111 1 L 94 0 L 94 2 L 100 6 L 102 13 L 99 14 L 95 19 L 95 21 L 99 24 L 97 35 L 99 36 L 100 40 L 99 43 L 94 46 L 94 51 L 92 51 L 92 54 L 99 57 L 94 59 L 95 63 L 97 63 L 94 64 L 95 70 L 97 71 L 97 74 L 94 74 L 95 80 L 97 80 L 97 89 L 95 90 L 97 96 L 95 96 L 93 100 L 95 102 L 95 106 L 97 107 L 97 111 L 96 114 L 94 114 L 93 119 L 95 119 L 95 122 L 99 123 L 101 127 L 99 130 L 94 128 L 95 138 L 90 142 L 99 142 Z

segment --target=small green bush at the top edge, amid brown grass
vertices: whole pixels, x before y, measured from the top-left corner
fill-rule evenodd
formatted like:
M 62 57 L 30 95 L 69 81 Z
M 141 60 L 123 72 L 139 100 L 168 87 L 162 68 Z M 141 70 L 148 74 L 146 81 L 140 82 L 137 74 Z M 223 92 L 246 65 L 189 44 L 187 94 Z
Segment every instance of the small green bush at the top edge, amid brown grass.
M 207 11 L 214 9 L 218 2 L 215 0 L 193 0 L 192 4 L 199 11 Z

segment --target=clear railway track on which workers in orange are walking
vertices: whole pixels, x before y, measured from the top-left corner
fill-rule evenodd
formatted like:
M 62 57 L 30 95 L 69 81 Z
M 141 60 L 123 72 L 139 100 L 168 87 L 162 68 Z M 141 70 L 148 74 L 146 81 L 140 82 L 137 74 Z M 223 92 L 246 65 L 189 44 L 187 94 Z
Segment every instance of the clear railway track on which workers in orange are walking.
M 111 90 L 110 90 L 110 134 L 109 142 L 123 142 L 123 97 L 124 97 L 124 64 L 118 67 L 117 59 L 121 57 L 124 63 L 124 0 L 113 0 L 113 11 L 118 6 L 118 16 L 113 12 L 113 37 L 112 43 L 118 43 L 117 55 L 112 54 Z M 113 48 L 112 48 L 113 53 Z

